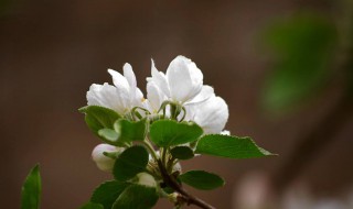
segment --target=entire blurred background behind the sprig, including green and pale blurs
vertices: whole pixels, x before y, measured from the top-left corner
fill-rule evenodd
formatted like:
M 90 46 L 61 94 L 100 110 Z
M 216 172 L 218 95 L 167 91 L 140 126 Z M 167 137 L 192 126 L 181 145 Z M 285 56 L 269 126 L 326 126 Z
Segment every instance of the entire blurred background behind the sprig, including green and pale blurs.
M 41 164 L 42 208 L 79 208 L 110 179 L 77 109 L 107 68 L 192 58 L 229 106 L 226 129 L 279 156 L 196 157 L 227 184 L 217 208 L 353 208 L 352 3 L 343 0 L 0 0 L 0 202 Z M 157 208 L 171 208 L 162 200 Z

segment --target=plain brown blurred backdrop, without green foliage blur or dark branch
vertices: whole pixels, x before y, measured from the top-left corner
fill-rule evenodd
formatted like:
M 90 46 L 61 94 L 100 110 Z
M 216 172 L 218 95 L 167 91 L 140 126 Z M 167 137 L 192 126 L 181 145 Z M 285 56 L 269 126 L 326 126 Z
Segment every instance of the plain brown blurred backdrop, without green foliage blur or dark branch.
M 132 65 L 145 89 L 150 58 L 165 70 L 176 55 L 192 58 L 204 82 L 229 106 L 227 129 L 249 135 L 278 157 L 232 161 L 197 157 L 183 169 L 203 168 L 227 184 L 194 191 L 217 208 L 235 208 L 234 189 L 252 172 L 278 173 L 298 139 L 334 107 L 340 81 L 281 118 L 260 108 L 271 62 L 259 50 L 258 34 L 271 21 L 298 9 L 340 14 L 332 1 L 65 1 L 1 0 L 0 4 L 0 208 L 19 208 L 29 169 L 41 164 L 42 208 L 78 208 L 108 174 L 90 161 L 99 143 L 77 112 L 90 84 L 110 82 L 106 69 Z M 300 84 L 298 84 L 300 85 Z M 335 121 L 332 121 L 334 124 Z M 344 125 L 343 125 L 344 124 Z M 353 119 L 335 130 L 334 141 L 299 175 L 318 196 L 352 188 Z M 160 201 L 159 208 L 171 208 Z

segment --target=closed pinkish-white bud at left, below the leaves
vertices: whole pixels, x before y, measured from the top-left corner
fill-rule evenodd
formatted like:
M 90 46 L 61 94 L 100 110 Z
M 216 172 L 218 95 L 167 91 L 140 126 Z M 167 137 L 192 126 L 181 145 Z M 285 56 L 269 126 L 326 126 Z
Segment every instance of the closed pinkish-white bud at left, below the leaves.
M 97 164 L 97 167 L 104 172 L 111 172 L 115 160 L 104 155 L 104 152 L 119 152 L 124 151 L 122 147 L 113 146 L 109 144 L 98 144 L 92 152 L 92 158 Z

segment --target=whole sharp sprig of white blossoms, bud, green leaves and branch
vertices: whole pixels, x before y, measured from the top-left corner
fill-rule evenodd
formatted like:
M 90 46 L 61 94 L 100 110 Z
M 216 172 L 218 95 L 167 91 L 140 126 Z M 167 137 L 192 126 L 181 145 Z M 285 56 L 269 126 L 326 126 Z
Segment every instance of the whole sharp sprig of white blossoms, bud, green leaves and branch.
M 175 208 L 213 208 L 188 193 L 183 184 L 210 190 L 224 185 L 218 175 L 181 168 L 197 155 L 249 158 L 272 155 L 250 138 L 229 135 L 226 102 L 203 84 L 195 63 L 176 56 L 159 72 L 154 62 L 147 78 L 147 98 L 137 87 L 130 64 L 124 74 L 108 69 L 113 84 L 93 84 L 85 113 L 88 128 L 104 142 L 93 153 L 98 168 L 114 180 L 95 189 L 83 209 L 152 208 L 168 198 Z

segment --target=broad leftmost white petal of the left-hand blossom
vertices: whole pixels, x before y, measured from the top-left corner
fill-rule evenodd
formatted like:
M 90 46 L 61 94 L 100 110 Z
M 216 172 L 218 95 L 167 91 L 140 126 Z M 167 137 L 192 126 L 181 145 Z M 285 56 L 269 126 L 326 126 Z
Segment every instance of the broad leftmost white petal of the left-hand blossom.
M 118 95 L 117 88 L 105 82 L 104 85 L 93 84 L 87 91 L 88 106 L 101 106 L 122 113 L 125 106 Z

